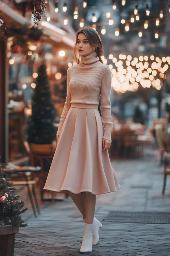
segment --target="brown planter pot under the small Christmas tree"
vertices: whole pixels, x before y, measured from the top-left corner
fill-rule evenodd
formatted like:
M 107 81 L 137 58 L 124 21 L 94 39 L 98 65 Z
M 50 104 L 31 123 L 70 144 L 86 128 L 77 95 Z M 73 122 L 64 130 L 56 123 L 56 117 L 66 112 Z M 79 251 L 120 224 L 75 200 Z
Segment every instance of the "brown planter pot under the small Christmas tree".
M 19 227 L 13 225 L 0 226 L 0 255 L 14 255 L 15 234 L 18 231 Z

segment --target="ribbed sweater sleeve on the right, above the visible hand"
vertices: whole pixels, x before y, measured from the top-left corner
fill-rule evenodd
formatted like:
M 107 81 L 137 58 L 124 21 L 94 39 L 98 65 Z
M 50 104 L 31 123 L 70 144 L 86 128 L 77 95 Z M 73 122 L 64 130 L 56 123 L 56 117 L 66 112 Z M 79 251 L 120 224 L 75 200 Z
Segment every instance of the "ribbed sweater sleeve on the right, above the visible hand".
M 111 139 L 111 131 L 113 127 L 113 123 L 111 121 L 111 85 L 112 85 L 112 74 L 109 67 L 106 67 L 104 74 L 101 80 L 101 114 L 102 114 L 102 123 L 104 126 L 104 134 L 103 139 L 109 140 L 112 142 Z

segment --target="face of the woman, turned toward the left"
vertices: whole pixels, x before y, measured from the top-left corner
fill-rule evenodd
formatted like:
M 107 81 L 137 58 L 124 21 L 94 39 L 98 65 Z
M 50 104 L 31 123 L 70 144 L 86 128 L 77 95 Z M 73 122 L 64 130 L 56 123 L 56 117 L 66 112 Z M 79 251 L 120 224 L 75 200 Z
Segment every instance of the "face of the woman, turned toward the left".
M 80 56 L 87 56 L 95 52 L 95 46 L 91 46 L 84 33 L 80 33 L 77 39 L 77 49 Z M 79 50 L 82 50 L 82 52 Z

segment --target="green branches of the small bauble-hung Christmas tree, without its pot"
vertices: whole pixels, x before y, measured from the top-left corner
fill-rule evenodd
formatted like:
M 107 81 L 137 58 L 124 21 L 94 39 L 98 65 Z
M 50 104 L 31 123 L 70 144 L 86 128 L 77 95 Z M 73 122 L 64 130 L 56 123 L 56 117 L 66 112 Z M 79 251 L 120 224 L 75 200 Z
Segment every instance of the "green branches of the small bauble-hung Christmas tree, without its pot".
M 17 189 L 12 187 L 11 179 L 4 177 L 3 166 L 4 163 L 0 163 L 0 226 L 27 227 L 28 224 L 23 222 L 20 214 L 26 212 L 28 208 L 23 208 L 22 200 L 17 201 L 20 196 L 15 194 Z

